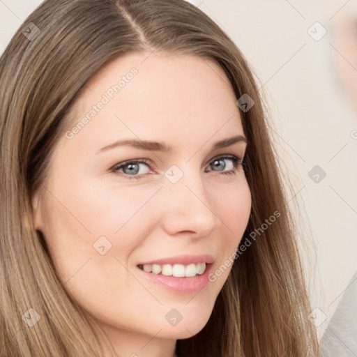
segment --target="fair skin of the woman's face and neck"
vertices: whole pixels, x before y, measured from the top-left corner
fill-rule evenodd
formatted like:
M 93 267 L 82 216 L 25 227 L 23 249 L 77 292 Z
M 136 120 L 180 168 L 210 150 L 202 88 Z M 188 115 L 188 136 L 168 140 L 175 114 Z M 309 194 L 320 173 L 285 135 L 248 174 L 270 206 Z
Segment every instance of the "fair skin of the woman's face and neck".
M 68 128 L 117 78 L 132 67 L 138 70 L 72 139 L 61 136 L 33 208 L 36 229 L 45 236 L 64 289 L 103 328 L 116 352 L 172 357 L 176 340 L 206 325 L 231 266 L 198 293 L 181 293 L 144 279 L 137 264 L 211 254 L 215 271 L 241 241 L 251 195 L 243 167 L 234 171 L 230 159 L 219 162 L 220 169 L 213 167 L 217 156 L 243 158 L 246 150 L 245 142 L 211 149 L 221 139 L 244 136 L 223 70 L 192 55 L 148 56 L 115 59 L 86 85 Z M 118 146 L 96 154 L 118 139 L 138 137 L 165 142 L 174 151 Z M 139 164 L 139 179 L 128 179 L 128 166 L 111 171 L 120 162 L 141 158 L 153 168 Z M 172 165 L 183 172 L 177 183 L 165 177 Z M 222 174 L 229 171 L 235 174 Z M 93 248 L 100 236 L 112 244 L 105 255 Z M 183 316 L 176 326 L 165 319 L 172 308 Z

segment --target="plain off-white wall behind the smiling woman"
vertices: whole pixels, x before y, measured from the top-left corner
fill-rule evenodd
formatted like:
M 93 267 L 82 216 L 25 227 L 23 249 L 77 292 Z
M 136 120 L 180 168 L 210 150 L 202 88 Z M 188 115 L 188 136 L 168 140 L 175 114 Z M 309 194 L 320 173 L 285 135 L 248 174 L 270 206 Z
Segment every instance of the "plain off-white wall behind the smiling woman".
M 0 0 L 0 53 L 40 2 Z M 302 211 L 296 217 L 321 335 L 357 269 L 357 113 L 336 70 L 344 62 L 357 83 L 357 59 L 335 36 L 345 16 L 356 15 L 357 24 L 357 1 L 190 2 L 228 33 L 264 85 L 279 155 L 294 185 L 291 203 Z M 315 22 L 327 31 L 319 40 L 312 36 L 324 29 Z M 308 176 L 315 165 L 326 172 L 319 183 Z

